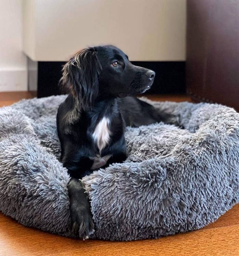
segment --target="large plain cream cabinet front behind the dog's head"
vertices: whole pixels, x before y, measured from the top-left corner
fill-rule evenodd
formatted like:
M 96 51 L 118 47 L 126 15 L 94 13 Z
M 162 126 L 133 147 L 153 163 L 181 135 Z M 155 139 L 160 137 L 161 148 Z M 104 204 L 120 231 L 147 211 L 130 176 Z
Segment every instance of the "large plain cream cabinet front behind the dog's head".
M 64 61 L 113 44 L 130 60 L 184 61 L 186 0 L 24 0 L 24 51 Z

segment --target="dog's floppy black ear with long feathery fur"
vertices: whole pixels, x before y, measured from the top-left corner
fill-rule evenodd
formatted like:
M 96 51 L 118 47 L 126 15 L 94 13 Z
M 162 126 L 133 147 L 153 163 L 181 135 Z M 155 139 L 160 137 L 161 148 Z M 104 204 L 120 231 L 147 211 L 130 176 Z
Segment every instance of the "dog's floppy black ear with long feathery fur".
M 79 100 L 80 109 L 92 109 L 98 94 L 100 71 L 95 48 L 79 51 L 64 65 L 60 84 Z

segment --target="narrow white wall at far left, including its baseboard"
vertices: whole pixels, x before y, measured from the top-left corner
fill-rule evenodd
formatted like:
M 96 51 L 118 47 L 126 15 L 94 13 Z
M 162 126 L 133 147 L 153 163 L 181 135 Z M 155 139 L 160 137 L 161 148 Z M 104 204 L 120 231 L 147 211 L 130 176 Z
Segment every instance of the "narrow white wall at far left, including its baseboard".
M 0 0 L 0 92 L 27 90 L 22 0 Z

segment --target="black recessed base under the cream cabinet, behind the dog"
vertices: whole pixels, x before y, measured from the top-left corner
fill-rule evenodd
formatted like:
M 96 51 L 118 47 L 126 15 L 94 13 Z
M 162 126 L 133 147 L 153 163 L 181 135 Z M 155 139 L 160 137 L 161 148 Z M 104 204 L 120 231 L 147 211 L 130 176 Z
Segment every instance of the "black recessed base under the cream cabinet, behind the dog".
M 156 72 L 154 84 L 147 94 L 185 94 L 185 62 L 184 61 L 132 61 L 134 65 L 143 66 Z M 58 82 L 61 69 L 65 62 L 39 61 L 37 63 L 37 80 L 31 79 L 32 72 L 28 72 L 29 81 L 37 81 L 37 96 L 46 97 L 61 94 Z

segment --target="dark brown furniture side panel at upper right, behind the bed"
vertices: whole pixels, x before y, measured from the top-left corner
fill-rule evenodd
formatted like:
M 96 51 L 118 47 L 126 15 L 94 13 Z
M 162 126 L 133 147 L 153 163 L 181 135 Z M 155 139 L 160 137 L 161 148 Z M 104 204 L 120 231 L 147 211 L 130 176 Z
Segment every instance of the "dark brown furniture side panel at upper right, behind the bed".
M 187 0 L 186 90 L 239 111 L 239 1 Z

